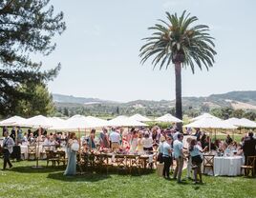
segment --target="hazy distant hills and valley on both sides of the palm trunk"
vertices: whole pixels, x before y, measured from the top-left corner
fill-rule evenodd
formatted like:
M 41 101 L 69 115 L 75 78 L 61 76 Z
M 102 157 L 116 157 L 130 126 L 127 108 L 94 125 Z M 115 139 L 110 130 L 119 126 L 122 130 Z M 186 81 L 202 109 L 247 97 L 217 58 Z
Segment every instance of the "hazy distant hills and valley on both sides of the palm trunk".
M 109 115 L 133 114 L 136 112 L 146 115 L 161 115 L 171 112 L 175 107 L 175 100 L 151 101 L 136 100 L 128 103 L 101 100 L 97 98 L 83 98 L 61 94 L 53 94 L 56 108 L 71 109 L 81 114 Z M 182 97 L 183 110 L 208 111 L 216 108 L 253 109 L 256 110 L 256 90 L 231 91 L 224 94 L 212 94 L 207 97 Z

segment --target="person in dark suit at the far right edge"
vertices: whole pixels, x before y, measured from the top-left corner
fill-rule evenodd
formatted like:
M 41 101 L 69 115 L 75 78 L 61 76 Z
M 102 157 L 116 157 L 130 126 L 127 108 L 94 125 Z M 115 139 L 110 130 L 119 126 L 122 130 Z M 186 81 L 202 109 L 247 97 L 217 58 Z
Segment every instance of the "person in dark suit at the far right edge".
M 253 132 L 249 132 L 248 137 L 245 138 L 243 151 L 245 154 L 245 165 L 247 165 L 247 157 L 256 156 L 256 139 L 253 138 Z M 256 171 L 256 163 L 254 165 L 254 170 Z

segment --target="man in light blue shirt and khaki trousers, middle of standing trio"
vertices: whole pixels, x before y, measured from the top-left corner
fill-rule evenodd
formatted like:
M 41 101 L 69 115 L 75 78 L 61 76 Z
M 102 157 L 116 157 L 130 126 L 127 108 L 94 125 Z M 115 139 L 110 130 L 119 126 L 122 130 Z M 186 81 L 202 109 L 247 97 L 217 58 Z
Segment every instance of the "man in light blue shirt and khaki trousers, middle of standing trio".
M 183 162 L 184 162 L 184 157 L 183 157 L 183 135 L 180 133 L 178 134 L 178 139 L 174 141 L 173 143 L 173 149 L 174 149 L 174 158 L 176 160 L 176 168 L 174 170 L 174 175 L 173 178 L 177 179 L 178 183 L 181 183 L 181 173 L 182 173 L 182 168 L 183 168 Z M 177 178 L 178 176 L 178 178 Z

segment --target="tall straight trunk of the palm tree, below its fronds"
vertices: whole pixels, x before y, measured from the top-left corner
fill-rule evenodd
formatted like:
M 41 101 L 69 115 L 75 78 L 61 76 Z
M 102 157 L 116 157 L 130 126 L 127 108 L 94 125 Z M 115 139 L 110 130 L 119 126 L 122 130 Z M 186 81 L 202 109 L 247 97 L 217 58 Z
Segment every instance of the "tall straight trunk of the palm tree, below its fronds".
M 175 63 L 175 115 L 182 120 L 182 101 L 181 101 L 181 62 Z M 182 130 L 182 124 L 177 125 L 178 129 Z

